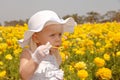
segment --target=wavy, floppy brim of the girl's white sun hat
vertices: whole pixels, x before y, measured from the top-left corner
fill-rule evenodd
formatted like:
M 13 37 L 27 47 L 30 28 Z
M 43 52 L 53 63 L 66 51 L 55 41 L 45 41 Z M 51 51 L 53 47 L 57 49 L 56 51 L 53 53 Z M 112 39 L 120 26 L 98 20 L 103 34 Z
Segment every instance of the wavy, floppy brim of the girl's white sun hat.
M 49 21 L 47 21 L 49 22 Z M 42 25 L 39 26 L 46 26 L 46 23 L 43 23 Z M 52 23 L 53 22 L 53 23 Z M 74 26 L 76 25 L 74 19 L 72 17 L 67 18 L 66 20 L 60 20 L 60 21 L 54 21 L 52 20 L 52 22 L 50 24 L 63 24 L 63 32 L 73 32 L 74 31 Z M 50 25 L 49 24 L 49 25 Z M 48 24 L 47 24 L 48 25 Z M 38 26 L 38 27 L 39 27 Z M 37 30 L 27 30 L 24 34 L 24 39 L 19 40 L 19 44 L 22 48 L 24 48 L 24 46 L 26 46 L 29 42 L 30 42 L 30 38 L 31 36 L 35 33 L 35 32 L 39 32 L 43 29 L 43 27 L 40 27 Z

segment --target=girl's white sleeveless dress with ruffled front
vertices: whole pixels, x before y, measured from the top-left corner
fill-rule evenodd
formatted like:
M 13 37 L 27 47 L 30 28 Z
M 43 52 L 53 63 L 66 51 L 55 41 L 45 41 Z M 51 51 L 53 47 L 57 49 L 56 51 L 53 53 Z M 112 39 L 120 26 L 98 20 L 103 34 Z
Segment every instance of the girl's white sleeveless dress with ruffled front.
M 63 74 L 63 71 L 59 69 L 55 56 L 47 55 L 30 80 L 63 80 Z

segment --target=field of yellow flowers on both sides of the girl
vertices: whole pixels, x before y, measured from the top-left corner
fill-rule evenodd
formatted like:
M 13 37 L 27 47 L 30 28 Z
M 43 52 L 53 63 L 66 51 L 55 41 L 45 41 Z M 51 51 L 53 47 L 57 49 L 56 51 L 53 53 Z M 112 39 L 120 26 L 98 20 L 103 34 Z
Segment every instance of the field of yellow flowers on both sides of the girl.
M 18 40 L 24 26 L 0 27 L 0 80 L 20 80 Z M 64 33 L 59 48 L 64 80 L 120 80 L 120 23 L 86 23 Z

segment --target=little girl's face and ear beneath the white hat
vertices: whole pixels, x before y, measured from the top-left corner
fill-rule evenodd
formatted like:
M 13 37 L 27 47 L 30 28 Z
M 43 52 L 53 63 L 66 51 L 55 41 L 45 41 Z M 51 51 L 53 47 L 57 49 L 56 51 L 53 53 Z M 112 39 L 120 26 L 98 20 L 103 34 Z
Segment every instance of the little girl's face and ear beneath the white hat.
M 63 25 L 51 24 L 45 26 L 44 29 L 36 34 L 37 45 L 46 44 L 50 42 L 52 46 L 59 47 L 61 45 L 61 36 L 63 33 Z

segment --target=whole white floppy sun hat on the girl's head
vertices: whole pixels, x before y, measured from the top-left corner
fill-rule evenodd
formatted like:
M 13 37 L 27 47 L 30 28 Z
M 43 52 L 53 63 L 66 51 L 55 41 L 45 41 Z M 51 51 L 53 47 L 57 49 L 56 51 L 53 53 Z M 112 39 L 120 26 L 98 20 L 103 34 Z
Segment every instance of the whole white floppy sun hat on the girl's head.
M 73 32 L 76 22 L 72 17 L 66 20 L 60 19 L 58 15 L 51 10 L 43 10 L 35 13 L 28 21 L 28 30 L 24 34 L 24 39 L 19 40 L 19 44 L 24 48 L 35 32 L 41 31 L 44 26 L 50 24 L 63 24 L 63 32 Z

